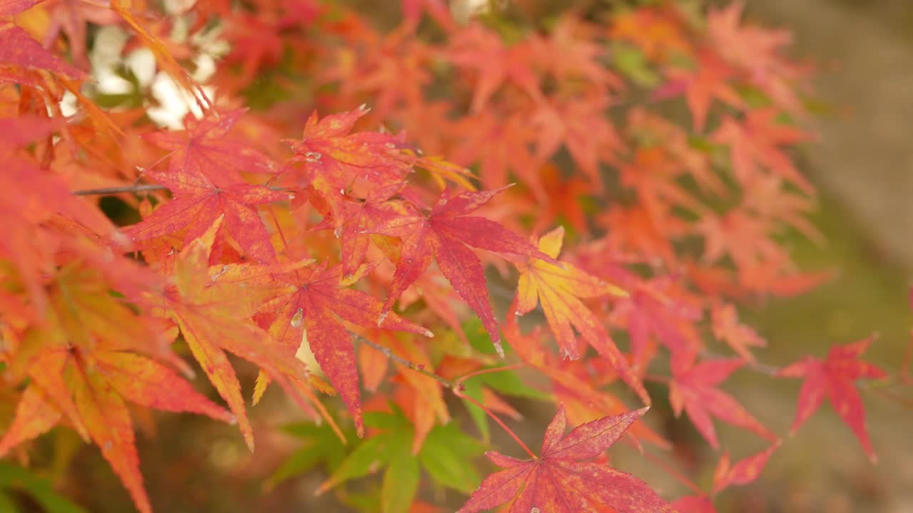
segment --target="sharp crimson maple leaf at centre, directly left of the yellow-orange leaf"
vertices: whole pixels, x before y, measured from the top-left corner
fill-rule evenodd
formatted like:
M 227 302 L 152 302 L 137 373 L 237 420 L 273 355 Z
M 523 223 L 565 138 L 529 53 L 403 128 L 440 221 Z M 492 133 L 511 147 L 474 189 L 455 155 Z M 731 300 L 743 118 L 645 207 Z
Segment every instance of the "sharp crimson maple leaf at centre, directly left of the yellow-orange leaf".
M 381 320 L 404 290 L 425 273 L 434 257 L 447 281 L 482 319 L 491 341 L 500 348 L 498 324 L 488 299 L 485 271 L 478 257 L 467 246 L 537 257 L 560 265 L 553 257 L 543 254 L 504 226 L 484 217 L 468 215 L 502 190 L 457 193 L 447 189 L 427 215 L 414 211 L 374 228 L 377 233 L 399 236 L 403 240 Z

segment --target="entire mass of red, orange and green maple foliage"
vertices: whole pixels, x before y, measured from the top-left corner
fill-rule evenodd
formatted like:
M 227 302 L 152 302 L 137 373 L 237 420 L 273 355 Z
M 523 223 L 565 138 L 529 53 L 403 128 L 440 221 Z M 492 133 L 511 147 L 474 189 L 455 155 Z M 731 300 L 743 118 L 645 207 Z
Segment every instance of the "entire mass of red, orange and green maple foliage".
M 452 4 L 382 29 L 318 0 L 0 0 L 0 454 L 75 430 L 150 512 L 137 412 L 235 423 L 253 451 L 278 388 L 320 423 L 318 492 L 380 472 L 373 510 L 443 487 L 467 513 L 706 513 L 782 450 L 724 392 L 753 372 L 803 379 L 792 429 L 827 397 L 874 460 L 871 340 L 773 368 L 736 308 L 829 276 L 782 245 L 820 237 L 789 33 L 739 3 Z M 504 420 L 519 398 L 557 412 L 538 453 Z M 766 448 L 654 491 L 603 454 L 675 467 L 651 403 Z M 526 459 L 478 458 L 492 426 Z

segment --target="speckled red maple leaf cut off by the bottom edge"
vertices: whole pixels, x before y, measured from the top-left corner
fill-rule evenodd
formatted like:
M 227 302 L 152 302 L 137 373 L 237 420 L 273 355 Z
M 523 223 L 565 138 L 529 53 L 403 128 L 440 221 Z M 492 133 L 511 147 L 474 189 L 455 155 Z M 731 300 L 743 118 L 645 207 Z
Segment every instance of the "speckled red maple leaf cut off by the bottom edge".
M 505 468 L 482 481 L 457 513 L 475 513 L 511 501 L 509 513 L 575 513 L 614 508 L 619 513 L 672 512 L 665 500 L 635 476 L 592 461 L 613 445 L 642 408 L 582 424 L 563 436 L 564 407 L 545 431 L 541 455 L 519 460 L 496 452 L 488 459 Z

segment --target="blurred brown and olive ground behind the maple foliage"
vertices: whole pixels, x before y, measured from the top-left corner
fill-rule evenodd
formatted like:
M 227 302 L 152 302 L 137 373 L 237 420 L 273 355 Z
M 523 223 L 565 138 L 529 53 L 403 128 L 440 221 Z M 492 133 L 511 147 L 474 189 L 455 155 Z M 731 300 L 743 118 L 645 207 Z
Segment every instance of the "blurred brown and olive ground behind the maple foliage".
M 379 22 L 390 9 L 361 2 Z M 394 5 L 394 2 L 389 4 Z M 571 2 L 542 1 L 543 13 Z M 607 8 L 608 0 L 581 2 Z M 720 4 L 723 4 L 720 2 Z M 748 323 L 769 340 L 761 360 L 772 365 L 804 354 L 824 355 L 876 331 L 880 338 L 866 359 L 891 371 L 903 358 L 913 316 L 913 1 L 911 0 L 746 0 L 747 16 L 792 31 L 796 57 L 816 63 L 819 140 L 799 155 L 803 172 L 820 190 L 814 223 L 827 238 L 815 245 L 789 241 L 806 269 L 833 268 L 836 277 L 799 298 L 749 305 Z M 249 369 L 247 378 L 256 375 Z M 239 374 L 242 372 L 239 372 Z M 249 384 L 249 383 L 247 383 Z M 787 433 L 799 390 L 798 380 L 759 380 L 739 373 L 728 389 L 777 433 Z M 874 390 L 863 392 L 867 425 L 880 460 L 869 463 L 853 434 L 829 405 L 799 434 L 787 439 L 761 479 L 719 497 L 720 511 L 740 512 L 913 512 L 913 403 L 899 403 Z M 524 409 L 522 435 L 540 439 L 551 408 Z M 325 478 L 319 470 L 276 487 L 271 476 L 300 443 L 278 426 L 295 420 L 278 394 L 252 412 L 257 453 L 250 455 L 233 426 L 193 415 L 138 418 L 142 474 L 157 511 L 332 512 L 341 508 L 331 493 L 314 497 Z M 738 458 L 762 448 L 756 437 L 718 424 L 723 445 Z M 687 421 L 666 426 L 685 430 Z M 89 511 L 131 511 L 120 482 L 98 451 L 75 434 L 56 430 L 56 450 L 43 462 L 48 475 L 67 475 L 68 497 Z M 498 440 L 495 441 L 496 446 Z M 508 446 L 508 445 L 501 445 Z M 712 472 L 718 454 L 696 444 L 687 459 Z M 48 455 L 51 453 L 49 452 Z M 643 476 L 666 497 L 687 493 L 665 472 L 627 448 L 613 451 L 614 465 Z M 40 458 L 40 455 L 37 456 Z M 689 469 L 682 469 L 687 474 Z M 2 474 L 2 472 L 0 472 Z M 74 478 L 75 476 L 75 478 Z M 711 476 L 691 476 L 706 484 Z M 445 497 L 458 507 L 461 497 Z M 24 499 L 26 500 L 26 499 Z M 3 509 L 0 508 L 0 511 Z M 36 510 L 41 510 L 36 508 Z

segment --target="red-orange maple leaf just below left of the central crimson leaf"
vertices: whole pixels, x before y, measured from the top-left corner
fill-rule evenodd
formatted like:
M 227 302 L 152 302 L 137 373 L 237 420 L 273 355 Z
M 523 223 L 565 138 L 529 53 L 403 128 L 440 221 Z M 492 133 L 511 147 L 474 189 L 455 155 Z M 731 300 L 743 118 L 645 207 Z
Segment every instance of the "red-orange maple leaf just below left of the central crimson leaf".
M 348 288 L 343 283 L 342 266 L 296 269 L 285 274 L 268 277 L 270 282 L 287 285 L 290 293 L 264 304 L 270 313 L 261 325 L 286 346 L 293 356 L 299 346 L 307 343 L 326 373 L 333 388 L 349 407 L 359 434 L 363 434 L 361 391 L 352 335 L 341 320 L 363 327 L 380 327 L 383 330 L 401 330 L 434 336 L 431 331 L 400 318 L 394 313 L 383 317 L 380 301 L 361 290 Z M 289 351 L 290 350 L 290 351 Z

